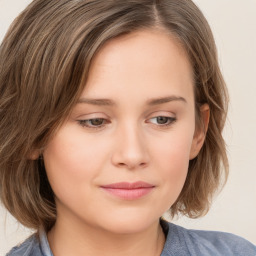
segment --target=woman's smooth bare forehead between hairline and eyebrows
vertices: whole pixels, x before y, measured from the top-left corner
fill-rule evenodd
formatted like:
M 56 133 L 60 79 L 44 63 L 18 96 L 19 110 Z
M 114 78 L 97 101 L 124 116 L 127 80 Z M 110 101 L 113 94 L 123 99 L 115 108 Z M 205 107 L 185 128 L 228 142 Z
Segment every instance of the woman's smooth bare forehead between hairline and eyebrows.
M 178 40 L 163 31 L 141 30 L 103 45 L 92 61 L 83 94 L 109 97 L 140 88 L 145 94 L 186 94 L 191 84 L 192 68 Z

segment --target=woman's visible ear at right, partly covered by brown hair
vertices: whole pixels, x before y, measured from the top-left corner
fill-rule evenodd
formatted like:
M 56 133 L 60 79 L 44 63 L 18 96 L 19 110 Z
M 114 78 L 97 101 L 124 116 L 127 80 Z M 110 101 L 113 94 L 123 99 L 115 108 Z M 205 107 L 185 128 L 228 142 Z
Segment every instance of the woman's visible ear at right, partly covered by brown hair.
M 208 129 L 210 119 L 210 108 L 208 104 L 204 104 L 200 107 L 200 120 L 201 122 L 199 124 L 196 124 L 195 134 L 193 137 L 191 150 L 189 159 L 194 159 L 198 153 L 200 152 L 200 149 L 202 148 L 205 140 L 205 136 Z

